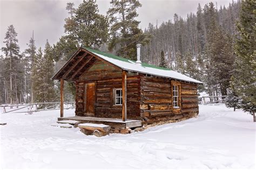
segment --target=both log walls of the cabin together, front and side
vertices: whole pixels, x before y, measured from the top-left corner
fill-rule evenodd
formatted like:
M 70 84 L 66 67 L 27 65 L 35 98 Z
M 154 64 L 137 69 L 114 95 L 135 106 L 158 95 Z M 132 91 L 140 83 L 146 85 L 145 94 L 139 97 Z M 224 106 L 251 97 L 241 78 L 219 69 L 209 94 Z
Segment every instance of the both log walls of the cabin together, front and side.
M 122 88 L 122 70 L 96 61 L 76 81 L 76 115 L 84 111 L 85 84 L 96 83 L 95 117 L 122 118 L 122 105 L 114 105 L 114 89 Z M 180 108 L 172 107 L 172 83 L 179 85 Z M 198 115 L 197 84 L 163 77 L 127 73 L 127 118 L 143 124 L 180 121 Z

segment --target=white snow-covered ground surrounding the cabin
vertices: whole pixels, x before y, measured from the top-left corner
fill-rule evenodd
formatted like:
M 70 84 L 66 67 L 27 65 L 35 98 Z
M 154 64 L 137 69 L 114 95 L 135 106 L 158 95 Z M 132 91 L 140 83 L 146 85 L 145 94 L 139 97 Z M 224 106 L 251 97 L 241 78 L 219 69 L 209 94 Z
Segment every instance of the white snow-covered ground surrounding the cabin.
M 225 105 L 199 116 L 131 134 L 85 136 L 53 127 L 59 110 L 0 114 L 0 168 L 252 168 L 255 123 Z M 64 110 L 64 116 L 74 110 Z

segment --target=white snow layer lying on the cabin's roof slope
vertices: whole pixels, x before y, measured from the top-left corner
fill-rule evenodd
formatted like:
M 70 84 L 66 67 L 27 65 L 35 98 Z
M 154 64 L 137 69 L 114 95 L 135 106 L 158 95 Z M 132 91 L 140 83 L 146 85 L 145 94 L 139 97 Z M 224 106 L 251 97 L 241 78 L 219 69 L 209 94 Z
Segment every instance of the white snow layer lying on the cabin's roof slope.
M 151 67 L 143 67 L 142 65 L 137 64 L 130 60 L 129 60 L 130 61 L 130 63 L 129 63 L 129 62 L 109 58 L 107 56 L 104 56 L 104 55 L 101 55 L 98 53 L 93 53 L 93 54 L 99 56 L 100 58 L 102 58 L 106 61 L 109 61 L 113 65 L 116 65 L 124 70 L 136 71 L 139 73 L 152 74 L 152 75 L 157 75 L 157 76 L 162 76 L 162 77 L 170 77 L 173 79 L 184 80 L 184 81 L 188 81 L 188 82 L 203 83 L 196 79 L 192 79 L 191 77 L 188 77 L 184 74 L 174 72 L 173 70 L 162 70 L 162 69 L 151 68 Z

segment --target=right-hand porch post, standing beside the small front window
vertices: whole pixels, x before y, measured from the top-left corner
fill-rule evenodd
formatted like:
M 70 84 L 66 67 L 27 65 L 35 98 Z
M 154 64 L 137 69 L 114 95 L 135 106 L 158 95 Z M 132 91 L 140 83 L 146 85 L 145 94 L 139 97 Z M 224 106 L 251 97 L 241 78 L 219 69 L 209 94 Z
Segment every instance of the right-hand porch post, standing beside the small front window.
M 123 122 L 127 119 L 127 103 L 126 103 L 126 72 L 122 72 L 122 119 Z

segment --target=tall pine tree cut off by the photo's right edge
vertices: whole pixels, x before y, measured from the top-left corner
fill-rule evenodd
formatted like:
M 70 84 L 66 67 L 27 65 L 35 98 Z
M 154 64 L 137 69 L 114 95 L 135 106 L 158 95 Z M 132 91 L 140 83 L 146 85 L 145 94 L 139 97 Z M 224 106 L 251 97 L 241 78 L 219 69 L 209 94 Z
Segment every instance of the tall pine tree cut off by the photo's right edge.
M 236 93 L 242 97 L 242 108 L 255 117 L 256 111 L 256 2 L 242 1 L 240 22 L 237 23 L 239 35 L 235 42 L 234 80 Z M 256 119 L 254 119 L 256 122 Z

